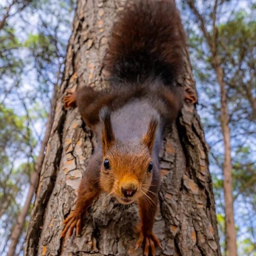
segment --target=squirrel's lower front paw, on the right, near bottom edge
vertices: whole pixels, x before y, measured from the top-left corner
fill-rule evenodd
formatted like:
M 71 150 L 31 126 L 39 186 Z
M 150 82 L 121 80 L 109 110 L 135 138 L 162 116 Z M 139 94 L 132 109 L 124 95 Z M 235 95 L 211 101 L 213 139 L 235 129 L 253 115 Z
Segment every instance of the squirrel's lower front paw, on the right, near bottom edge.
M 135 250 L 137 250 L 142 244 L 145 244 L 143 255 L 148 256 L 149 248 L 151 249 L 151 255 L 156 255 L 156 247 L 161 247 L 160 241 L 154 235 L 153 231 L 149 235 L 144 235 L 142 231 L 140 231 L 140 237 L 136 243 Z

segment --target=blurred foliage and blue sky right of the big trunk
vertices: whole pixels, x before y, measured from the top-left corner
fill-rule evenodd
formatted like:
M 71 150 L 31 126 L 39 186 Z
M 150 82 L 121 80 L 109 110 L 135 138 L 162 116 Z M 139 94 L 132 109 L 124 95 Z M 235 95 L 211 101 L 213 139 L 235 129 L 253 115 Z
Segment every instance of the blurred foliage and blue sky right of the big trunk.
M 220 128 L 220 92 L 212 65 L 212 53 L 198 20 L 182 1 L 183 23 L 188 35 L 190 59 L 197 81 L 198 106 L 210 146 L 210 170 L 217 208 L 222 251 L 225 252 L 223 141 Z M 241 6 L 239 3 L 242 2 Z M 213 37 L 214 1 L 195 1 Z M 209 6 L 209 8 L 206 8 Z M 246 6 L 244 8 L 244 6 Z M 203 8 L 202 8 L 203 7 Z M 233 164 L 233 196 L 238 227 L 238 253 L 256 251 L 256 7 L 250 1 L 221 1 L 217 8 L 217 54 L 227 84 Z M 245 245 L 247 244 L 247 245 Z M 250 247 L 250 250 L 247 249 Z

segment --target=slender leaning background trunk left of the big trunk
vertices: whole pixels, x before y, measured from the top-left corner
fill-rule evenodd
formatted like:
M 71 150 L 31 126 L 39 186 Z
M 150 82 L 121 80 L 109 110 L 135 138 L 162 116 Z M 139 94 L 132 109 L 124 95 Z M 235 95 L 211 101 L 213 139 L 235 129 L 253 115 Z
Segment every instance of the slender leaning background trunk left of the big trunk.
M 40 170 L 42 168 L 42 164 L 43 164 L 43 161 L 44 161 L 45 148 L 46 148 L 46 145 L 47 145 L 47 141 L 49 140 L 49 134 L 50 134 L 51 124 L 52 124 L 52 111 L 54 111 L 54 109 L 55 109 L 56 94 L 57 94 L 57 86 L 56 86 L 54 95 L 52 97 L 51 109 L 50 109 L 49 116 L 48 116 L 48 119 L 47 119 L 47 130 L 46 130 L 45 135 L 44 135 L 44 140 L 42 141 L 42 144 L 41 144 L 41 151 L 40 151 L 40 154 L 38 156 L 38 159 L 37 159 L 37 162 L 36 162 L 36 165 L 35 165 L 35 171 L 33 172 L 33 174 L 31 175 L 31 178 L 30 178 L 29 191 L 28 191 L 28 194 L 26 196 L 26 202 L 25 202 L 22 210 L 20 211 L 20 213 L 17 217 L 17 223 L 15 224 L 15 227 L 13 228 L 11 236 L 10 236 L 11 243 L 10 243 L 10 246 L 9 246 L 7 256 L 14 256 L 15 255 L 15 250 L 16 250 L 16 247 L 17 247 L 17 243 L 18 243 L 20 235 L 22 233 L 22 230 L 23 230 L 23 227 L 24 227 L 26 216 L 27 216 L 29 208 L 30 208 L 32 198 L 35 195 L 35 189 L 38 186 L 38 178 L 39 178 Z

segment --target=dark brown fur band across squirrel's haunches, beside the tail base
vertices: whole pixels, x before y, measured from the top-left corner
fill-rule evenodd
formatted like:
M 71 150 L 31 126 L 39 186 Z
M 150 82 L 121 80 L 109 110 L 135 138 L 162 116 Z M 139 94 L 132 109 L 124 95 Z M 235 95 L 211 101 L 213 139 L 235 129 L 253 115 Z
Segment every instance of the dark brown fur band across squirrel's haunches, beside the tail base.
M 183 105 L 182 87 L 166 87 L 160 81 L 148 79 L 143 84 L 119 85 L 101 92 L 81 87 L 77 92 L 79 111 L 90 127 L 99 123 L 99 110 L 107 106 L 116 111 L 134 99 L 146 100 L 162 117 L 163 124 L 171 123 Z

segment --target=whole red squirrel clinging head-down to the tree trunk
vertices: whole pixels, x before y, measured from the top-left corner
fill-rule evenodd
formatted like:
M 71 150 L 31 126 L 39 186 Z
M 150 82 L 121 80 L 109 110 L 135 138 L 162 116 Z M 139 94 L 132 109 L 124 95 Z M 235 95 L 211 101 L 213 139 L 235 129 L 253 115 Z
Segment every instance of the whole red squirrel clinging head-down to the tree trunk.
M 137 201 L 144 255 L 155 255 L 160 241 L 152 229 L 160 187 L 159 151 L 166 128 L 183 105 L 185 38 L 172 0 L 139 0 L 119 13 L 105 68 L 110 88 L 81 87 L 64 97 L 64 108 L 78 106 L 99 138 L 81 180 L 76 208 L 64 221 L 61 237 L 81 231 L 84 215 L 101 192 L 121 204 Z

